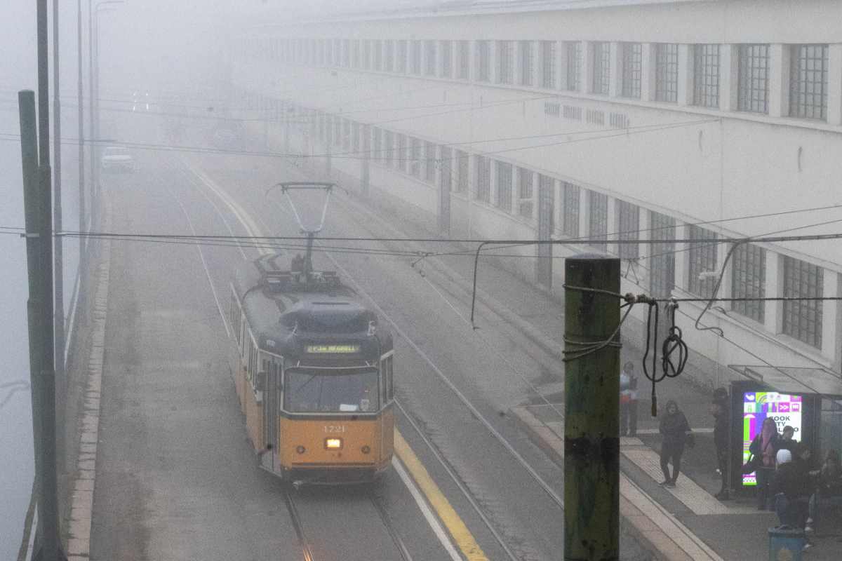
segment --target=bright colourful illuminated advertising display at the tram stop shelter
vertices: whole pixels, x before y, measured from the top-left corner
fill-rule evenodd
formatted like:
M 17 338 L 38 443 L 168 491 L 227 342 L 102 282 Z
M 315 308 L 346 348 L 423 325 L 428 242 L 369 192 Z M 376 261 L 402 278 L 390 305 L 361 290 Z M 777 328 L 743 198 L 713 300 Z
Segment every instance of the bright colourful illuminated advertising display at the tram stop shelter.
M 743 463 L 749 461 L 751 441 L 759 434 L 767 417 L 771 417 L 781 433 L 785 426 L 795 429 L 795 439 L 801 441 L 803 401 L 801 395 L 779 394 L 777 392 L 743 393 Z M 743 475 L 743 485 L 756 485 L 752 472 Z

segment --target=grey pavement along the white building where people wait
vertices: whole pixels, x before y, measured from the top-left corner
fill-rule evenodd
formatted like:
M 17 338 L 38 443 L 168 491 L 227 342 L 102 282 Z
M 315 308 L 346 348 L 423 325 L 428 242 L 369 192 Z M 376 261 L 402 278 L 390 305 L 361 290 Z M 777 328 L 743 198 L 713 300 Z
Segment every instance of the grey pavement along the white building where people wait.
M 372 200 L 366 202 L 373 203 Z M 377 205 L 381 211 L 386 210 L 378 213 L 381 220 L 400 217 L 400 222 L 392 224 L 407 237 L 436 236 L 431 222 L 424 224 L 423 220 L 409 220 L 408 217 L 417 217 L 418 214 L 400 208 L 401 204 L 395 201 L 384 204 L 381 200 Z M 436 247 L 440 254 L 449 249 L 464 249 L 458 246 L 448 248 L 446 244 Z M 461 284 L 470 294 L 472 259 L 432 257 L 425 259 L 421 267 L 426 267 L 428 273 L 435 271 L 449 281 Z M 564 321 L 561 299 L 498 267 L 495 262 L 483 260 L 481 267 L 477 300 L 511 325 L 516 325 L 546 352 L 559 357 Z M 720 489 L 721 479 L 717 474 L 711 428 L 713 419 L 709 413 L 710 391 L 691 383 L 689 376 L 679 376 L 658 384 L 658 404 L 663 406 L 667 400 L 676 400 L 696 433 L 695 447 L 685 450 L 682 475 L 675 488 L 663 488 L 658 484 L 663 479 L 658 454 L 658 419 L 649 414 L 651 386 L 645 384 L 642 376 L 642 350 L 624 344 L 621 363 L 626 361 L 637 365 L 641 382 L 637 437 L 621 438 L 620 511 L 627 522 L 626 527 L 632 528 L 655 558 L 665 561 L 768 558 L 767 529 L 778 525 L 774 513 L 758 511 L 752 497 L 733 497 L 733 500 L 727 501 L 714 497 Z M 688 364 L 687 368 L 692 371 L 695 366 Z M 520 429 L 560 467 L 563 466 L 564 454 L 562 381 L 559 378 L 542 385 L 540 394 L 509 411 Z M 822 533 L 811 537 L 813 547 L 805 553 L 807 558 L 817 561 L 840 558 L 842 543 L 839 529 L 842 529 L 842 522 L 836 522 L 836 532 L 831 528 L 818 528 L 818 532 Z

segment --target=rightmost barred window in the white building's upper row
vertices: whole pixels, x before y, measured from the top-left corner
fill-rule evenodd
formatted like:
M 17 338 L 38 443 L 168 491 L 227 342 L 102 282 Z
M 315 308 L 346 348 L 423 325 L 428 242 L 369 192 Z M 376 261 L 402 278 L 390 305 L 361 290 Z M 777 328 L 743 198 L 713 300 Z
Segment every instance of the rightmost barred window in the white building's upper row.
M 828 45 L 792 45 L 790 116 L 828 118 Z

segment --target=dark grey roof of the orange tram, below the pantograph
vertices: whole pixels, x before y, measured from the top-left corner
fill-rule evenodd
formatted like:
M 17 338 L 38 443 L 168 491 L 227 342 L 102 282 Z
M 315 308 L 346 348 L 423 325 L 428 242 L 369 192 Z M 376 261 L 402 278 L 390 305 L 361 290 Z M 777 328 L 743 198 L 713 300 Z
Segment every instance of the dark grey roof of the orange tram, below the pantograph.
M 237 267 L 234 288 L 261 349 L 284 356 L 373 359 L 392 349 L 392 336 L 354 290 L 330 271 L 309 285 L 290 273 L 285 253 Z M 323 352 L 320 352 L 323 351 Z

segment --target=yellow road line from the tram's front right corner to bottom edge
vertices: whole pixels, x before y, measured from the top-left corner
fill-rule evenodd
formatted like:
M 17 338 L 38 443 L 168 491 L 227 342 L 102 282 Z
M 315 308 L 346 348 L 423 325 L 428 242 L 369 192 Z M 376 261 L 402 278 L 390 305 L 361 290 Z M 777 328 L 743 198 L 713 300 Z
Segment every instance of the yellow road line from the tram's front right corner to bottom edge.
M 462 555 L 468 561 L 488 561 L 482 548 L 479 547 L 477 540 L 474 539 L 473 534 L 465 526 L 465 522 L 456 514 L 456 511 L 450 506 L 450 502 L 445 498 L 445 495 L 435 484 L 432 478 L 427 473 L 427 469 L 422 465 L 421 460 L 415 455 L 412 448 L 407 442 L 403 440 L 401 433 L 395 429 L 395 453 L 401 459 L 401 462 L 412 474 L 415 483 L 424 492 L 424 495 L 429 500 L 429 504 L 433 506 L 436 514 L 444 522 L 447 531 L 450 532 L 450 537 L 459 546 Z

